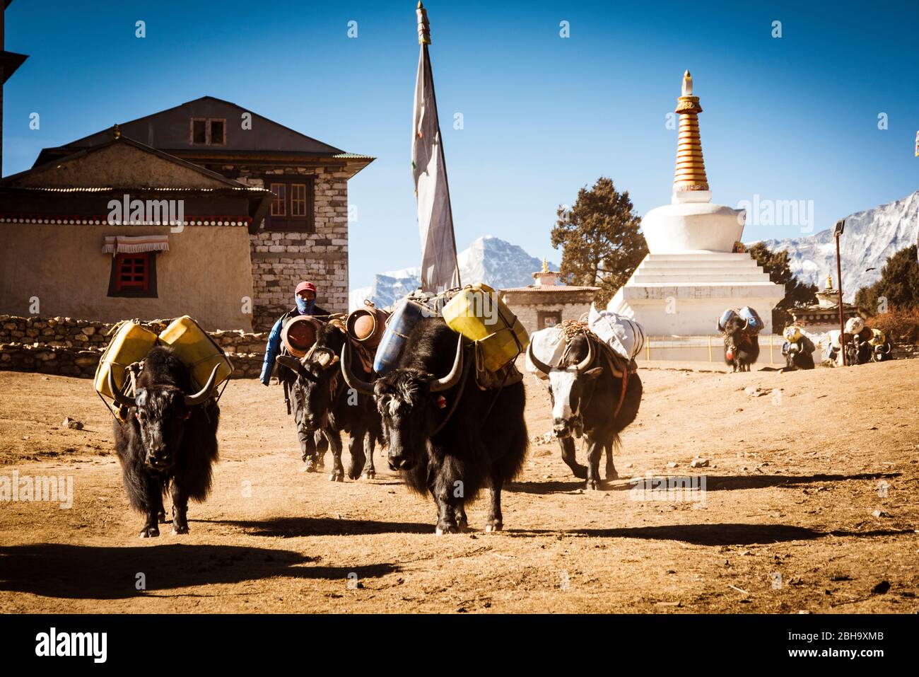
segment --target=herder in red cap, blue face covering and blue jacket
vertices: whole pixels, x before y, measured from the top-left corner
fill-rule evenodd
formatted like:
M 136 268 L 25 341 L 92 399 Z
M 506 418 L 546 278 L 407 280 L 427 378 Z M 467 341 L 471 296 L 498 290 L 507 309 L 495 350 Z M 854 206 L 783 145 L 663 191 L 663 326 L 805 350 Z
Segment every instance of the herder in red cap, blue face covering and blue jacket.
M 268 334 L 268 343 L 265 347 L 265 361 L 262 363 L 262 375 L 260 381 L 263 384 L 271 383 L 271 374 L 275 371 L 275 358 L 281 351 L 281 329 L 289 317 L 302 315 L 311 316 L 328 316 L 329 313 L 323 308 L 316 305 L 316 285 L 312 282 L 302 281 L 297 285 L 294 293 L 294 300 L 297 305 L 291 308 L 287 313 L 280 316 L 274 327 L 271 327 L 271 333 Z M 291 413 L 293 405 L 294 420 L 297 423 L 297 439 L 300 441 L 302 459 L 306 463 L 306 469 L 314 472 L 323 467 L 323 455 L 328 449 L 328 442 L 323 436 L 322 430 L 304 430 L 300 425 L 303 418 L 303 408 L 305 402 L 301 401 L 299 391 L 291 387 L 296 376 L 286 367 L 278 372 L 278 380 L 284 384 L 284 399 L 287 402 L 288 414 Z

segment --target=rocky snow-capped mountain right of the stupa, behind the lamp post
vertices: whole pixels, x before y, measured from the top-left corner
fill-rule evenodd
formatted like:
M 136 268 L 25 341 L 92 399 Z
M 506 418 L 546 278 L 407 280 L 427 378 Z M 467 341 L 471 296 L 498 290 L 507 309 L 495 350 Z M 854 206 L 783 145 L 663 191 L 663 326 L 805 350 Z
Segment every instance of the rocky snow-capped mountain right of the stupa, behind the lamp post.
M 887 259 L 919 239 L 919 190 L 902 200 L 882 204 L 845 217 L 840 240 L 843 297 L 851 302 L 856 292 L 880 279 Z M 806 237 L 764 240 L 773 251 L 787 251 L 791 271 L 801 281 L 823 289 L 827 273 L 836 280 L 836 245 L 833 230 Z

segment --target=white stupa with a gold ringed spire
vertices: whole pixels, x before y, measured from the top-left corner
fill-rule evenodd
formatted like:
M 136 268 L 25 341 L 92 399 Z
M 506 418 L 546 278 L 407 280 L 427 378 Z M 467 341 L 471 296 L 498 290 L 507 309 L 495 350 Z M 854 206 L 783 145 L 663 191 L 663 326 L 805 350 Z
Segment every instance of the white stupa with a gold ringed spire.
M 705 175 L 692 76 L 683 75 L 671 204 L 641 220 L 649 254 L 607 309 L 637 320 L 649 336 L 711 334 L 726 308 L 749 305 L 772 330 L 772 309 L 785 297 L 781 284 L 749 254 L 734 253 L 746 212 L 711 203 Z M 779 327 L 780 328 L 780 327 Z

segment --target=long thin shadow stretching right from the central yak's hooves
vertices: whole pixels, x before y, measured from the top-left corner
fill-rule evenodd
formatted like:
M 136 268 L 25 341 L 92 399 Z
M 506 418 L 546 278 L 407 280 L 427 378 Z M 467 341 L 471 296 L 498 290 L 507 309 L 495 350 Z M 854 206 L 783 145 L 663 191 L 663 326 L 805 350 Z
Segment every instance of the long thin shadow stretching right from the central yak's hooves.
M 877 536 L 912 535 L 909 529 L 875 529 L 866 532 L 833 530 L 828 532 L 789 524 L 669 524 L 665 526 L 623 527 L 620 529 L 548 529 L 510 530 L 510 536 L 532 537 L 541 534 L 569 534 L 597 536 L 600 538 L 641 538 L 651 541 L 680 541 L 692 545 L 767 545 L 788 541 L 811 541 L 825 536 Z

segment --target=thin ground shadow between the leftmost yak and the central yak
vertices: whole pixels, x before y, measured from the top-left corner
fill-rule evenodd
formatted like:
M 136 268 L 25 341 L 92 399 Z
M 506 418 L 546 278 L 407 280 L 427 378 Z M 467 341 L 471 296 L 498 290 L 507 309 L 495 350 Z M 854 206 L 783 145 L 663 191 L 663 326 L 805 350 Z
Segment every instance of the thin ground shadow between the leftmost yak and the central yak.
M 366 534 L 432 534 L 433 524 L 422 522 L 375 522 L 334 517 L 275 517 L 268 520 L 202 520 L 242 529 L 250 536 L 297 538 L 299 536 L 354 536 Z

